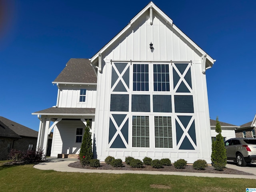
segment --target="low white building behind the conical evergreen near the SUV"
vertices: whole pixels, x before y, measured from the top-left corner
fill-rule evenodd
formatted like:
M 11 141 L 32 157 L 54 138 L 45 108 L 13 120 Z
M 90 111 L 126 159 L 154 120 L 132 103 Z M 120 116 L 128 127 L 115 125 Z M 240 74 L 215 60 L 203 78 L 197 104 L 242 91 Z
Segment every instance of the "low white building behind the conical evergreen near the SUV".
M 210 119 L 210 124 L 211 124 L 211 135 L 212 135 L 212 140 L 216 139 L 216 133 L 215 128 L 216 128 L 216 120 Z M 221 126 L 221 135 L 223 136 L 223 140 L 226 141 L 231 138 L 235 138 L 235 129 L 238 128 L 239 126 L 220 122 Z

